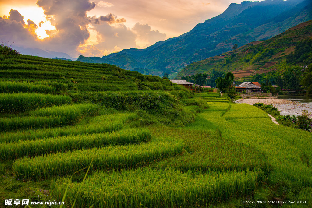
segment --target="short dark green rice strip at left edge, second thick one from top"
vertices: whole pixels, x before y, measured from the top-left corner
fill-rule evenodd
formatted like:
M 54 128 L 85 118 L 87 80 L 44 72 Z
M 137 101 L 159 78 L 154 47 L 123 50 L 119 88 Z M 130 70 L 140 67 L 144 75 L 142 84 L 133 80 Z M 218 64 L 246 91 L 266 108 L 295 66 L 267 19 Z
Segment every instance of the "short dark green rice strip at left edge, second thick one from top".
M 0 94 L 0 114 L 21 113 L 27 110 L 70 104 L 71 97 L 35 93 Z

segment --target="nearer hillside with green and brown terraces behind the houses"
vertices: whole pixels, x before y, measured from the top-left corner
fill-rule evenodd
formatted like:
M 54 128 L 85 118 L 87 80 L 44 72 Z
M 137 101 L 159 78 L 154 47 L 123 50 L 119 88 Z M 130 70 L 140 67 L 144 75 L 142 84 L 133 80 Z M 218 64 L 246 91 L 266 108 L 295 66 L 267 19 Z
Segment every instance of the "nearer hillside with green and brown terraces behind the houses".
M 253 41 L 241 46 L 236 51 L 194 62 L 183 68 L 177 77 L 197 73 L 211 75 L 214 70 L 230 71 L 234 74 L 236 80 L 240 78 L 248 80 L 248 77 L 252 75 L 266 74 L 273 70 L 281 72 L 291 65 L 308 65 L 312 60 L 308 60 L 304 56 L 305 53 L 310 53 L 306 56 L 311 57 L 312 48 L 309 49 L 309 46 L 304 44 L 302 50 L 298 51 L 299 53 L 297 52 L 298 54 L 295 51 L 295 46 L 302 44 L 308 38 L 312 38 L 312 20 L 292 27 L 266 41 Z M 291 60 L 289 54 L 292 52 L 295 52 L 295 56 L 302 57 L 292 58 L 293 60 Z

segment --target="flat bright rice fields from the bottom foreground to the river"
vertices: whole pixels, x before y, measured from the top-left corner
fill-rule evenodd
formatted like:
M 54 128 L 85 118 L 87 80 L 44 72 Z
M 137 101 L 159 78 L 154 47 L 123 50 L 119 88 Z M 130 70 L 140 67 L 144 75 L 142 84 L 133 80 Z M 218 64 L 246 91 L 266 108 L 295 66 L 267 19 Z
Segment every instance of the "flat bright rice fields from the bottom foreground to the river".
M 66 202 L 78 194 L 78 207 L 246 207 L 246 199 L 312 205 L 309 132 L 275 125 L 247 104 L 208 104 L 186 127 L 149 127 L 155 138 L 183 141 L 181 155 L 136 170 L 98 171 L 83 183 L 56 179 L 51 192 L 61 198 L 69 183 Z

